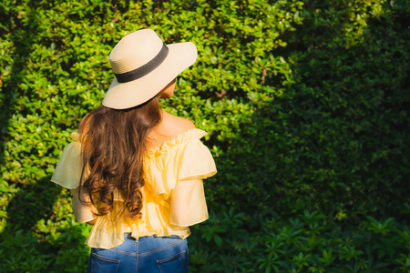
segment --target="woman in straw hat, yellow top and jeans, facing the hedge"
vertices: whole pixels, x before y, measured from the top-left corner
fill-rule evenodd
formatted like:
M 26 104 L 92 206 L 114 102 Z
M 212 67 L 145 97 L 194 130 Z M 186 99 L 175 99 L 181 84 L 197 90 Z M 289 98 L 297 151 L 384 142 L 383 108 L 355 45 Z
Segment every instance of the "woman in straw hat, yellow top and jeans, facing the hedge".
M 71 190 L 78 222 L 94 225 L 88 272 L 188 272 L 189 226 L 208 218 L 202 179 L 216 167 L 206 133 L 159 98 L 196 58 L 192 43 L 165 45 L 149 29 L 110 53 L 116 77 L 51 179 Z

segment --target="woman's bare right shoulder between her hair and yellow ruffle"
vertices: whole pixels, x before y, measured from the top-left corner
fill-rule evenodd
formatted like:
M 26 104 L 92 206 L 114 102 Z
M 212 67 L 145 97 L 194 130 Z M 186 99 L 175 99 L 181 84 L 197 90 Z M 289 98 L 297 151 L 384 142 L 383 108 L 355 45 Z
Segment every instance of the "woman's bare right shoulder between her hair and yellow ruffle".
M 163 135 L 175 137 L 196 128 L 189 119 L 173 116 L 165 111 L 162 113 L 161 131 Z

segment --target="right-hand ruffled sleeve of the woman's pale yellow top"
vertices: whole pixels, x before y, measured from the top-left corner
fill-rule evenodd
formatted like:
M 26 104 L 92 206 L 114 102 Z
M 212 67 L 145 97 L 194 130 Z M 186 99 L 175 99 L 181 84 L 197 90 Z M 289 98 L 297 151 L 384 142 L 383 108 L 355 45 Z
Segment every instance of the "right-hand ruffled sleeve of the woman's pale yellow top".
M 202 136 L 204 131 L 190 130 L 147 158 L 147 182 L 155 195 L 169 200 L 172 225 L 189 227 L 208 219 L 202 179 L 217 169 Z

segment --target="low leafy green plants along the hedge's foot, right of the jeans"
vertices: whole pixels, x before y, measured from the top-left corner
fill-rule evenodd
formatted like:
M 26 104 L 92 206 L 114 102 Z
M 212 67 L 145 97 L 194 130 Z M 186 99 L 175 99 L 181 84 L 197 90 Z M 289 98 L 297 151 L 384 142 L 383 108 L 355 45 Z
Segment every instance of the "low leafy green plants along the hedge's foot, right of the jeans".
M 251 231 L 247 222 L 257 224 Z M 193 272 L 405 272 L 409 227 L 367 217 L 343 230 L 322 213 L 258 219 L 211 214 L 190 238 Z M 215 248 L 217 247 L 217 248 Z

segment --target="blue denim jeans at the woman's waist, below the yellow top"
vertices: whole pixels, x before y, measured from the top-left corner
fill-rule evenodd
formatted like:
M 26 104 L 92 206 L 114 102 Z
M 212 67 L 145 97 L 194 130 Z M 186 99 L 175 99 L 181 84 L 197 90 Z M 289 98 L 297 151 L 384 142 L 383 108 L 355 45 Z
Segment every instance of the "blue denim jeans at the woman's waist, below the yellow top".
M 136 240 L 125 233 L 124 243 L 116 248 L 91 248 L 87 272 L 189 272 L 187 240 L 179 236 Z

